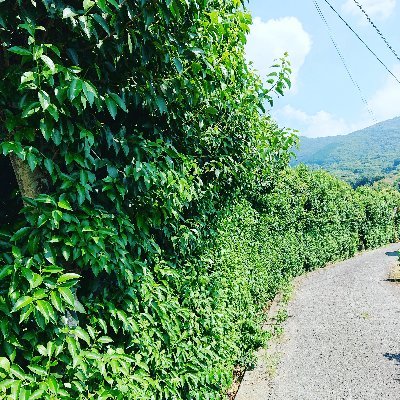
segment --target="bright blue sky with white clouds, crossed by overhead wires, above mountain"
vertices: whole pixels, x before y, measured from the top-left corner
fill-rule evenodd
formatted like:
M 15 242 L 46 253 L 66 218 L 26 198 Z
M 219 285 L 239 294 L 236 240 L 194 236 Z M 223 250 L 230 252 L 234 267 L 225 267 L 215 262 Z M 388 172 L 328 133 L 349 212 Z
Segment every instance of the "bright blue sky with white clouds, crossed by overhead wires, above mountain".
M 353 0 L 329 0 L 400 80 L 400 62 L 376 34 Z M 363 47 L 324 0 L 318 3 L 351 74 L 375 120 L 400 116 L 400 84 Z M 400 0 L 359 0 L 400 55 Z M 265 76 L 274 59 L 289 52 L 293 88 L 276 101 L 281 126 L 317 137 L 350 133 L 374 119 L 353 86 L 312 0 L 250 0 L 253 25 L 246 53 Z

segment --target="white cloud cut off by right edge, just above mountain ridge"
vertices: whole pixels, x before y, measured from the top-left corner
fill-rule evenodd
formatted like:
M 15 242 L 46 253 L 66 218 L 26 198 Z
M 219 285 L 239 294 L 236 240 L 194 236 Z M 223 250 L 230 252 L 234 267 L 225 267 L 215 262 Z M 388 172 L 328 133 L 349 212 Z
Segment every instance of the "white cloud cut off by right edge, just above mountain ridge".
M 400 77 L 400 65 L 394 66 L 391 71 Z M 398 117 L 400 115 L 400 84 L 389 75 L 368 103 L 379 121 Z

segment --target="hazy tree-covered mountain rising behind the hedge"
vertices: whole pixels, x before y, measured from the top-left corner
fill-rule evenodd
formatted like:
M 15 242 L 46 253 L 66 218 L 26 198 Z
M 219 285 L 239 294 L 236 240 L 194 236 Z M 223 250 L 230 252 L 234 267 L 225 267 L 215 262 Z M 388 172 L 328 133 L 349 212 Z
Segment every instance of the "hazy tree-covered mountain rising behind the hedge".
M 353 186 L 371 184 L 400 166 L 400 117 L 342 136 L 300 137 L 292 165 L 323 168 Z

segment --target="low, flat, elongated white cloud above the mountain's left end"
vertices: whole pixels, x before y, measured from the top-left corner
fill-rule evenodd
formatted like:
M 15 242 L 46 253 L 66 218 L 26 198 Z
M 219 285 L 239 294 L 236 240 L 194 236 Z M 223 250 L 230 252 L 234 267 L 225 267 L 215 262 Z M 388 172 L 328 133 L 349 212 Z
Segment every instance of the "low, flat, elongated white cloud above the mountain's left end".
M 370 125 L 366 121 L 350 124 L 343 118 L 338 118 L 323 110 L 315 114 L 307 114 L 290 105 L 277 110 L 274 117 L 280 125 L 284 122 L 285 125 L 298 129 L 300 135 L 308 137 L 345 135 Z

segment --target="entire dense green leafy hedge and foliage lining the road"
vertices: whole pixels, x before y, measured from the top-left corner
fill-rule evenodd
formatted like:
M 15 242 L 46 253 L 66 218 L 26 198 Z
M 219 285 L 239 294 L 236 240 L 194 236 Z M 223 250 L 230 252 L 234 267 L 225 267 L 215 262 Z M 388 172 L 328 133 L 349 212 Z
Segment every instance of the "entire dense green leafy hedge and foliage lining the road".
M 286 168 L 263 107 L 290 68 L 263 87 L 249 23 L 238 0 L 0 3 L 2 398 L 223 398 L 281 284 L 397 237 L 397 193 Z

